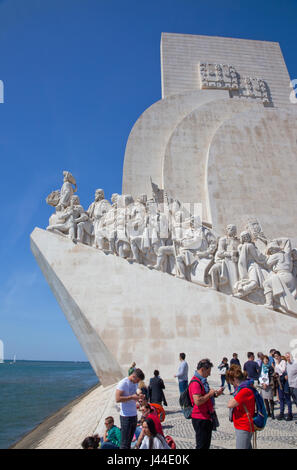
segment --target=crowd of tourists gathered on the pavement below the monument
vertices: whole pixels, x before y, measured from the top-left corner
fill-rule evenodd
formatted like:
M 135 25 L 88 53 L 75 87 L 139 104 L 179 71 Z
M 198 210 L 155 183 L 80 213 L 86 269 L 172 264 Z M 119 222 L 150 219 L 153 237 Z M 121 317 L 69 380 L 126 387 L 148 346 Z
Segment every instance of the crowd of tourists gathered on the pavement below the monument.
M 229 419 L 234 425 L 237 449 L 252 448 L 252 440 L 255 447 L 256 431 L 265 426 L 267 418 L 275 419 L 276 402 L 279 402 L 280 410 L 276 419 L 293 420 L 292 403 L 297 406 L 297 362 L 293 362 L 289 352 L 281 355 L 276 349 L 271 349 L 267 355 L 259 352 L 256 360 L 254 353 L 248 352 L 243 367 L 236 353 L 230 364 L 228 358 L 223 357 L 218 365 L 221 386 L 216 390 L 210 388 L 207 380 L 213 368 L 209 359 L 198 362 L 190 382 L 185 353 L 180 353 L 179 360 L 174 377 L 178 379 L 180 406 L 185 417 L 192 422 L 196 449 L 210 448 L 212 432 L 219 426 L 215 400 L 224 394 L 225 383 L 230 394 Z M 87 437 L 82 443 L 83 448 L 176 448 L 173 438 L 165 436 L 162 428 L 166 415 L 163 406 L 167 406 L 167 402 L 159 371 L 154 371 L 148 386 L 144 378 L 142 370 L 136 368 L 134 362 L 128 376 L 116 388 L 115 400 L 120 406 L 121 428 L 115 426 L 114 418 L 109 416 L 105 419 L 103 437 Z M 259 425 L 259 422 L 262 424 Z

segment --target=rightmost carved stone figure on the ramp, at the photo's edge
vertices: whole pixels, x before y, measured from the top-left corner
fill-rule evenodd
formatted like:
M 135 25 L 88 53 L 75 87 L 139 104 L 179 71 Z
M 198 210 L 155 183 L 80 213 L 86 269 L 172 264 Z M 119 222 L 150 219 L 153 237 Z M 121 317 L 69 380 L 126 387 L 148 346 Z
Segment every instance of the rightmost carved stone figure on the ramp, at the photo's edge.
M 273 240 L 267 245 L 267 266 L 272 271 L 263 283 L 265 307 L 297 313 L 296 278 L 292 274 L 291 242 L 287 238 Z

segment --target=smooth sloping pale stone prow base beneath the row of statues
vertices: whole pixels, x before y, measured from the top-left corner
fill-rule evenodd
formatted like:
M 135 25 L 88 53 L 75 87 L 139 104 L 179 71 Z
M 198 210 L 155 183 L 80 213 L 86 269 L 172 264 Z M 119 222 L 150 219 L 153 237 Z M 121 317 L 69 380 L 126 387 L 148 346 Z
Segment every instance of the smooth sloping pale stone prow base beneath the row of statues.
M 290 349 L 297 318 L 200 287 L 39 228 L 31 246 L 103 385 L 135 361 L 172 378 L 180 352 L 191 370 L 235 351 Z M 122 372 L 124 370 L 124 372 Z

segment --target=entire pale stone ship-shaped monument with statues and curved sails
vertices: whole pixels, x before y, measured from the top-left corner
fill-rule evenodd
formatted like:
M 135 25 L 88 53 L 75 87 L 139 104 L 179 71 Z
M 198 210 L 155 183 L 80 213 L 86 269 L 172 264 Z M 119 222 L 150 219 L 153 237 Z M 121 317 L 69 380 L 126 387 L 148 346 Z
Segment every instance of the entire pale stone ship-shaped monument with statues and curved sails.
M 171 378 L 181 351 L 194 368 L 297 337 L 297 109 L 279 45 L 166 33 L 161 69 L 122 195 L 96 189 L 84 210 L 64 171 L 31 234 L 103 385 L 132 361 Z

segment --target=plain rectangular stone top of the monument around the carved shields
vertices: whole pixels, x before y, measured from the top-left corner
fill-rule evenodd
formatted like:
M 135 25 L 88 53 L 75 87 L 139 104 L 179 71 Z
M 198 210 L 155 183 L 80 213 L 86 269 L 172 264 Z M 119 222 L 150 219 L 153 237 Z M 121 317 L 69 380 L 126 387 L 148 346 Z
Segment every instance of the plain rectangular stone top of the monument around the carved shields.
M 162 97 L 199 89 L 199 62 L 230 64 L 242 77 L 261 78 L 274 106 L 290 105 L 290 77 L 277 42 L 162 33 Z

